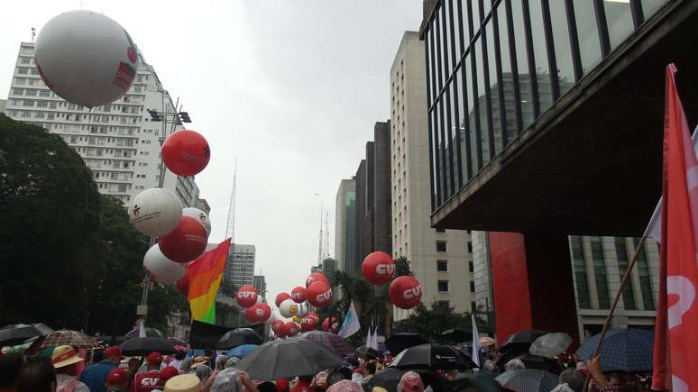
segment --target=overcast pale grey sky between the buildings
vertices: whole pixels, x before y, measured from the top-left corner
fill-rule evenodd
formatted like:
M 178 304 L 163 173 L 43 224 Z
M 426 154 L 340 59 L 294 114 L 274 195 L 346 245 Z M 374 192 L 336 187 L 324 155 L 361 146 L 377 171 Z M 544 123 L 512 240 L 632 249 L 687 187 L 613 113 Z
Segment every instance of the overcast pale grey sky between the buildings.
M 103 12 L 131 34 L 164 87 L 180 96 L 212 159 L 197 176 L 211 205 L 210 242 L 225 234 L 238 158 L 235 240 L 257 247 L 268 297 L 302 285 L 317 261 L 321 202 L 335 194 L 390 118 L 389 74 L 421 0 L 32 0 L 0 13 L 0 97 L 20 41 L 51 17 Z M 314 196 L 320 194 L 320 196 Z

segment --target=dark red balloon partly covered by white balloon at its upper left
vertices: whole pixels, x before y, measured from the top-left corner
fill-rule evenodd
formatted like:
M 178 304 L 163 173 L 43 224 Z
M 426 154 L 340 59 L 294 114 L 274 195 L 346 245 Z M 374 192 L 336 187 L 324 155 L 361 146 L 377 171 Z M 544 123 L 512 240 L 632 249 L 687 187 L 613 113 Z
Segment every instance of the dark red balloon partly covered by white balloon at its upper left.
M 166 258 L 186 263 L 206 251 L 208 236 L 204 226 L 190 216 L 182 216 L 177 228 L 158 239 L 160 251 Z

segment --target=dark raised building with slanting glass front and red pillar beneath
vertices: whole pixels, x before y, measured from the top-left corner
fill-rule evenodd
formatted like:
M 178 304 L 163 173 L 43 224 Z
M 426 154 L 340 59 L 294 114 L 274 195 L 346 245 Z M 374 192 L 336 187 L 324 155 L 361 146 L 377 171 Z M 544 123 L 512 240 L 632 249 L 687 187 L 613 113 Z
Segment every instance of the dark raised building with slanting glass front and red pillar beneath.
M 698 67 L 695 23 L 691 0 L 424 1 L 431 223 L 473 231 L 501 342 L 598 325 L 657 203 L 665 66 Z M 644 253 L 620 324 L 651 320 Z

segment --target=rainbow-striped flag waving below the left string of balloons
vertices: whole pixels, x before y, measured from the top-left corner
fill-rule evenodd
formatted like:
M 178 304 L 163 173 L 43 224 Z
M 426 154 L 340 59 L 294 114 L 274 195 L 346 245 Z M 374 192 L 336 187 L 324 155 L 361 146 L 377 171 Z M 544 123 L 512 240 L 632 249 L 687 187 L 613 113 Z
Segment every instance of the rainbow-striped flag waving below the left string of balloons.
M 189 293 L 187 299 L 194 320 L 216 324 L 216 293 L 221 286 L 230 239 L 216 249 L 207 251 L 189 264 Z

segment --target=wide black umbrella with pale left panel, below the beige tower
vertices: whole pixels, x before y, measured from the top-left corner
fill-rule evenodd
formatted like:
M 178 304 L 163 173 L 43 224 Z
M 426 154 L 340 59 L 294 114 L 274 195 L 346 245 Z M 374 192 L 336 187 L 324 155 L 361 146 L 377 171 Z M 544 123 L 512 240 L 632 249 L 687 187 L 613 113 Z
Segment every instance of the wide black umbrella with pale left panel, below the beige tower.
M 390 366 L 400 369 L 473 369 L 473 360 L 453 346 L 445 344 L 421 344 L 406 349 L 395 357 Z

